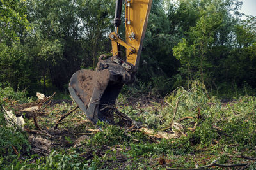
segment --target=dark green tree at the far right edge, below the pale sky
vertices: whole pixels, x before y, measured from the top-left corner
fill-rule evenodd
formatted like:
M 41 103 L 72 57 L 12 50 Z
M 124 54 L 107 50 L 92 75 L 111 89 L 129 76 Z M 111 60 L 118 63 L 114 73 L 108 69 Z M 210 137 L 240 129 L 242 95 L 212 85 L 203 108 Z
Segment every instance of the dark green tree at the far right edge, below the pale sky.
M 239 86 L 256 87 L 256 17 L 249 17 L 236 25 L 236 48 L 226 60 L 228 76 Z

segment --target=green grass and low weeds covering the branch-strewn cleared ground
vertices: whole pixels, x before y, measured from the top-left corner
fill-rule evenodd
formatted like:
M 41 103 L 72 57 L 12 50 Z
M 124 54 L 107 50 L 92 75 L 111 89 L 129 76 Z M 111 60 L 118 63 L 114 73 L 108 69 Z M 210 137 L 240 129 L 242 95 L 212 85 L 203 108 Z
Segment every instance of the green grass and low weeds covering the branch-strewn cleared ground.
M 28 101 L 11 91 L 4 93 L 9 94 L 9 99 L 21 97 L 20 101 Z M 5 98 L 0 98 L 1 104 L 6 104 Z M 195 168 L 214 160 L 218 160 L 218 164 L 250 163 L 251 169 L 256 168 L 252 160 L 256 157 L 256 97 L 243 96 L 221 103 L 218 97 L 207 97 L 204 85 L 195 81 L 191 89 L 179 87 L 161 102 L 142 100 L 126 106 L 122 104 L 124 101 L 129 103 L 125 96 L 118 98 L 118 109 L 133 120 L 156 131 L 182 131 L 183 134 L 177 139 L 157 139 L 103 122 L 97 125 L 102 131 L 95 132 L 92 129 L 96 127 L 86 121 L 80 110 L 71 113 L 54 130 L 56 120 L 76 107 L 63 102 L 48 106 L 47 117 L 38 118 L 44 130 L 41 134 L 17 132 L 21 137 L 14 140 L 8 138 L 14 130 L 6 127 L 1 112 L 1 129 L 5 132 L 1 130 L 0 135 L 6 138 L 0 141 L 3 148 L 0 169 Z M 190 118 L 182 120 L 184 117 Z M 36 130 L 33 120 L 26 120 L 26 127 Z M 36 152 L 35 143 L 28 140 L 31 135 L 33 139 L 40 136 L 51 142 L 50 154 Z M 18 155 L 8 142 L 17 148 Z M 159 162 L 160 158 L 164 164 Z

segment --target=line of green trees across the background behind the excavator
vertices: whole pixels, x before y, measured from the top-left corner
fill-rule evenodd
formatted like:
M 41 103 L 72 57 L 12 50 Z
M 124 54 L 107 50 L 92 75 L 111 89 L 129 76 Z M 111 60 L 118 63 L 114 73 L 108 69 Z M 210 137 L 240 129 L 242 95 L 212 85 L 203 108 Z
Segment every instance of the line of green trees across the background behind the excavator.
M 255 17 L 241 20 L 241 6 L 153 1 L 134 87 L 145 83 L 165 96 L 200 79 L 217 96 L 255 94 Z M 73 73 L 109 54 L 114 11 L 113 0 L 1 1 L 0 82 L 29 95 L 65 92 Z

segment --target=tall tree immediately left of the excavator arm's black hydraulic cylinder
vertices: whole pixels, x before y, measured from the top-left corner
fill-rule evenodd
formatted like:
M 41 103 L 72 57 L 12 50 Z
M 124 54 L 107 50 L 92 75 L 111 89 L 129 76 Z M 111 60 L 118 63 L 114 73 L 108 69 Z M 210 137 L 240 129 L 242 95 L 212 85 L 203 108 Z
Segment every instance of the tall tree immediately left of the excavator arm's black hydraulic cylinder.
M 95 69 L 99 55 L 111 50 L 108 34 L 113 27 L 115 1 L 86 0 L 77 3 L 80 4 L 78 16 L 83 24 L 83 48 L 87 52 L 87 60 L 83 61 L 83 66 Z

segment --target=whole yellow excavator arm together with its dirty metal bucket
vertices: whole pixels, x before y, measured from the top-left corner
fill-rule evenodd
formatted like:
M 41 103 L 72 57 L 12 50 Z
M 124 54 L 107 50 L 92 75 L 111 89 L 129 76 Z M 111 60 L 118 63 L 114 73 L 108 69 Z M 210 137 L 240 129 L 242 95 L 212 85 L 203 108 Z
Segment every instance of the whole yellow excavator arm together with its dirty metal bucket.
M 125 41 L 118 35 L 121 24 L 123 0 L 116 0 L 115 31 L 109 34 L 112 56 L 100 55 L 97 69 L 79 70 L 72 75 L 69 91 L 86 117 L 115 124 L 109 105 L 115 104 L 124 83 L 133 83 L 138 71 L 143 39 L 152 0 L 125 0 Z M 120 45 L 126 49 L 126 59 L 121 58 Z

